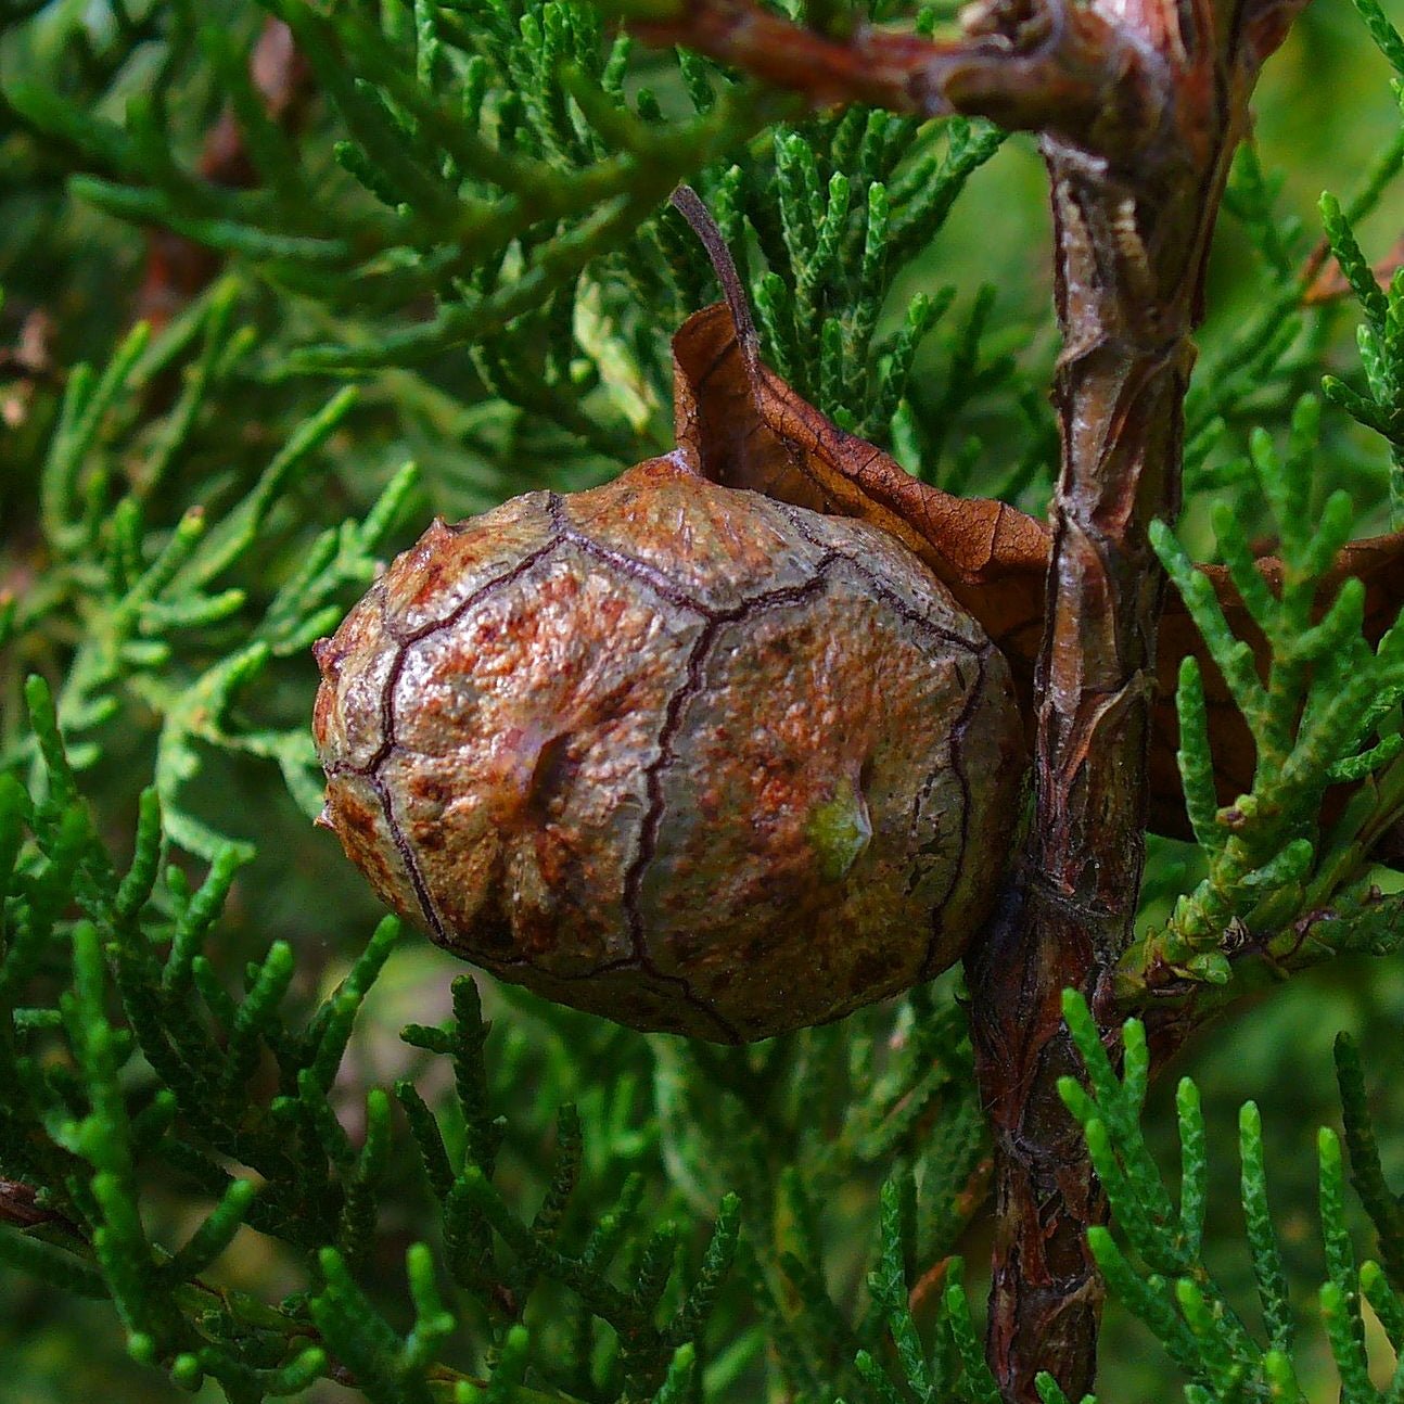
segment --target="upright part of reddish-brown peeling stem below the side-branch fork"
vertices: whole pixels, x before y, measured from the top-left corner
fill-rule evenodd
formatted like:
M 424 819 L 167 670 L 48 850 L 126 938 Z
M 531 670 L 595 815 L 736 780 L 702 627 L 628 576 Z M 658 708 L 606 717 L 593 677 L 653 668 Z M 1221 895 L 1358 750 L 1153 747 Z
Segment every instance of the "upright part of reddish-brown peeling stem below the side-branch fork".
M 1035 813 L 1012 917 L 967 959 L 1000 1150 L 988 1349 L 1021 1401 L 1039 1369 L 1074 1398 L 1092 1384 L 1101 1292 L 1085 1230 L 1105 1206 L 1057 1095 L 1077 1071 L 1060 994 L 1081 988 L 1109 1015 L 1104 980 L 1132 936 L 1163 594 L 1147 528 L 1178 508 L 1189 331 L 1230 146 L 1226 124 L 1203 164 L 1177 150 L 1158 171 L 1112 177 L 1045 139 L 1066 348 Z

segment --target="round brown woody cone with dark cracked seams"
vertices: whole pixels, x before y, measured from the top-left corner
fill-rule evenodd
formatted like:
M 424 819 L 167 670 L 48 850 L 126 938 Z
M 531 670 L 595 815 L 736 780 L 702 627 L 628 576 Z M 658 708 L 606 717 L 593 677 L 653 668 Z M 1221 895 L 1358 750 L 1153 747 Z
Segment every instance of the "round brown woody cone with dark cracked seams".
M 317 658 L 327 819 L 385 901 L 639 1029 L 936 974 L 1018 810 L 1008 668 L 921 563 L 674 456 L 435 521 Z

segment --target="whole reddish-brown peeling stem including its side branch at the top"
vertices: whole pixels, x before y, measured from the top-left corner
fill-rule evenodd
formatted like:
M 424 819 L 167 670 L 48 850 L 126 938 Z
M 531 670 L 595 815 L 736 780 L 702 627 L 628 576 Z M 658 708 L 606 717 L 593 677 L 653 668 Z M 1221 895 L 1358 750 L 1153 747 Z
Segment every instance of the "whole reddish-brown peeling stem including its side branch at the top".
M 688 4 L 649 31 L 816 101 L 965 112 L 1040 135 L 1064 350 L 1061 470 L 1036 675 L 1033 823 L 967 955 L 997 1147 L 987 1349 L 1004 1397 L 1095 1373 L 1101 1287 L 1085 1231 L 1105 1205 L 1057 1081 L 1081 988 L 1111 1039 L 1109 972 L 1132 936 L 1164 584 L 1148 548 L 1179 505 L 1184 395 L 1205 261 L 1259 67 L 1303 0 L 1012 0 L 967 37 L 799 29 L 750 3 Z

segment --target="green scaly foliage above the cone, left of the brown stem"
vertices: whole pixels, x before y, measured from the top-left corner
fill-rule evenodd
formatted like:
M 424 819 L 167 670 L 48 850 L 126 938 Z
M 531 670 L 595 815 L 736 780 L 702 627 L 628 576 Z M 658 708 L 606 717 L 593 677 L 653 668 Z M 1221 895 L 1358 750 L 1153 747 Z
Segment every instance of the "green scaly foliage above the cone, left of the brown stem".
M 959 416 L 994 397 L 1014 410 L 1021 432 L 1008 438 L 1022 449 L 986 469 L 988 490 L 1050 479 L 1056 442 L 1036 382 L 1008 350 L 981 347 L 993 289 L 973 299 L 942 390 L 920 410 L 903 399 L 913 361 L 955 289 L 917 293 L 879 334 L 890 289 L 998 147 L 986 124 L 856 107 L 776 124 L 793 104 L 695 56 L 640 58 L 574 0 L 396 0 L 375 25 L 355 7 L 324 15 L 300 0 L 267 14 L 289 25 L 329 107 L 300 142 L 264 114 L 226 27 L 184 6 L 147 17 L 170 27 L 164 81 L 124 93 L 121 121 L 28 76 L 6 87 L 24 128 L 76 147 L 76 197 L 232 257 L 288 303 L 261 373 L 379 372 L 403 413 L 442 427 L 461 414 L 438 393 L 452 369 L 576 452 L 657 452 L 665 334 L 710 296 L 696 241 L 660 215 L 691 178 L 743 263 L 754 240 L 767 355 L 802 393 L 875 441 L 896 438 L 913 468 L 956 490 L 983 446 L 953 432 Z M 253 190 L 176 156 L 174 94 L 211 77 Z

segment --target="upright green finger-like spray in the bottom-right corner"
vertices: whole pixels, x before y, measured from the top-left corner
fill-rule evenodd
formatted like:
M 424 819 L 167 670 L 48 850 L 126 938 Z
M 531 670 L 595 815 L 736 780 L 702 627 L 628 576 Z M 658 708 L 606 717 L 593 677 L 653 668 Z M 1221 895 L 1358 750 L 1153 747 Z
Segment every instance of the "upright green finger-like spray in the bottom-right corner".
M 1063 1099 L 1077 1118 L 1112 1206 L 1119 1230 L 1094 1228 L 1092 1252 L 1108 1292 L 1136 1316 L 1161 1344 L 1185 1379 L 1186 1404 L 1309 1398 L 1299 1372 L 1306 1353 L 1279 1247 L 1279 1230 L 1268 1202 L 1262 1118 L 1245 1102 L 1238 1116 L 1238 1195 L 1245 1250 L 1257 1287 L 1257 1320 L 1245 1320 L 1205 1262 L 1209 1206 L 1209 1144 L 1199 1088 L 1182 1078 L 1175 1097 L 1179 1123 L 1179 1202 L 1175 1203 L 1146 1143 L 1141 1116 L 1150 1056 L 1137 1021 L 1123 1029 L 1125 1064 L 1112 1067 L 1085 1001 L 1068 993 L 1064 1014 L 1081 1054 L 1087 1084 L 1061 1082 Z M 1360 1189 L 1380 1234 L 1382 1259 L 1394 1261 L 1400 1247 L 1398 1198 L 1379 1179 L 1372 1158 L 1373 1127 L 1363 1109 L 1359 1063 L 1348 1042 L 1339 1045 L 1341 1090 L 1346 1105 L 1351 1178 Z M 1404 1353 L 1404 1297 L 1400 1278 L 1380 1262 L 1358 1262 L 1346 1213 L 1346 1168 L 1341 1139 L 1323 1129 L 1317 1136 L 1318 1220 L 1324 1280 L 1317 1314 L 1335 1365 L 1342 1404 L 1377 1404 L 1404 1398 L 1404 1366 L 1386 1372 L 1379 1384 L 1366 1344 L 1363 1307 L 1373 1309 L 1389 1351 Z M 1393 1216 L 1393 1219 L 1390 1217 Z M 1043 1380 L 1049 1404 L 1064 1396 Z

